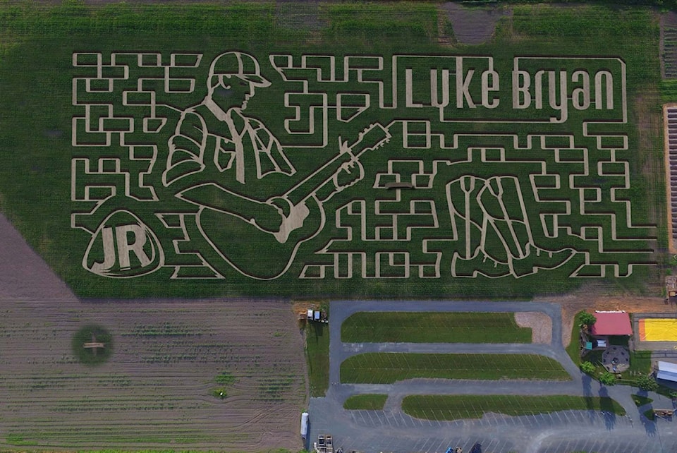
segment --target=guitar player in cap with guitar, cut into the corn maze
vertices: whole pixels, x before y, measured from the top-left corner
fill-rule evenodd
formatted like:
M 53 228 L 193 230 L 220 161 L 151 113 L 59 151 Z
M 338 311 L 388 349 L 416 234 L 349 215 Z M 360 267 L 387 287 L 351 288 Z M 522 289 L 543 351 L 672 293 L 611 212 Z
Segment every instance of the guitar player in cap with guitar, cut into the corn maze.
M 253 56 L 216 56 L 207 96 L 183 111 L 169 139 L 162 183 L 176 198 L 200 207 L 197 227 L 218 255 L 209 263 L 222 274 L 224 263 L 258 279 L 286 272 L 300 243 L 324 226 L 322 202 L 360 181 L 359 155 L 390 136 L 382 126 L 367 128 L 358 143 L 372 142 L 360 152 L 358 143 L 340 142 L 336 157 L 299 183 L 279 140 L 244 113 L 255 90 L 269 85 Z

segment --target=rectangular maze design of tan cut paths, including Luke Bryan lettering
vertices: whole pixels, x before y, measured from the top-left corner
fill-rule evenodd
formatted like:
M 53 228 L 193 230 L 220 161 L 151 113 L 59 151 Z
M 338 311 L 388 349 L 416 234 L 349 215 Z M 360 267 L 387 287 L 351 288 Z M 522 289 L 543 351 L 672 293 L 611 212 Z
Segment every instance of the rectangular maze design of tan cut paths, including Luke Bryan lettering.
M 250 54 L 203 57 L 73 54 L 71 224 L 99 277 L 520 278 L 569 261 L 569 277 L 628 277 L 652 264 L 627 196 L 621 59 L 516 56 L 499 73 L 480 56 L 270 54 L 264 76 Z M 185 107 L 207 64 L 207 95 Z M 298 143 L 245 114 L 268 79 Z

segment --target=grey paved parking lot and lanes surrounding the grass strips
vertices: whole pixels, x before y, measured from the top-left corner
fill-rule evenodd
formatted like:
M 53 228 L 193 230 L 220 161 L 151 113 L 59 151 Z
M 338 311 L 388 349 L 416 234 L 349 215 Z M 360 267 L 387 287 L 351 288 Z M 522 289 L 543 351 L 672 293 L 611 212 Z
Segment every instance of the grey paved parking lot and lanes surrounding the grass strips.
M 341 323 L 358 311 L 542 311 L 552 320 L 551 344 L 346 344 L 341 343 Z M 591 380 L 561 346 L 561 310 L 558 305 L 535 302 L 445 302 L 445 301 L 332 301 L 329 322 L 329 391 L 325 398 L 310 399 L 309 445 L 319 434 L 334 436 L 334 448 L 344 453 L 430 452 L 449 447 L 470 452 L 480 442 L 484 453 L 677 453 L 677 420 L 647 421 L 630 394 L 638 389 L 604 387 Z M 392 385 L 341 384 L 341 362 L 362 352 L 468 352 L 497 354 L 542 354 L 556 358 L 571 374 L 569 382 L 480 381 L 418 379 Z M 346 411 L 343 401 L 352 394 L 384 393 L 383 411 Z M 409 394 L 571 394 L 609 396 L 628 415 L 595 411 L 562 411 L 539 416 L 510 417 L 489 413 L 478 420 L 437 422 L 412 418 L 400 409 Z M 655 408 L 670 408 L 669 399 L 650 393 Z

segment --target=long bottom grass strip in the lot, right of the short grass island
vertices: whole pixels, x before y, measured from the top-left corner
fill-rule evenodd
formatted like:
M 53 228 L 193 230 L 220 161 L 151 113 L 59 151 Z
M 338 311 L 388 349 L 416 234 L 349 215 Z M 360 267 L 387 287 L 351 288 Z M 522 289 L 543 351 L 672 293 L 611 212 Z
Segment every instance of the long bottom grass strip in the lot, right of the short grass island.
M 481 418 L 496 412 L 509 416 L 535 415 L 568 410 L 610 411 L 623 416 L 626 411 L 609 397 L 572 397 L 551 395 L 529 397 L 520 395 L 412 395 L 402 401 L 405 413 L 427 420 L 458 420 Z

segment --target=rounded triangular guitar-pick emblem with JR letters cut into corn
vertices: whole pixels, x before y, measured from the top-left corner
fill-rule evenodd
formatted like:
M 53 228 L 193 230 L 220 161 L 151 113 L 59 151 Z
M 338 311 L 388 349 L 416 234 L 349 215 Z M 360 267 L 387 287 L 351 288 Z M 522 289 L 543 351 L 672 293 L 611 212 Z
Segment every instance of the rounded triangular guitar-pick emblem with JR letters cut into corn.
M 138 277 L 164 264 L 157 236 L 129 211 L 106 217 L 92 234 L 83 267 L 103 277 Z

